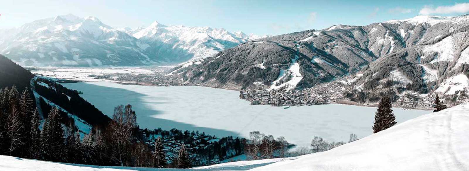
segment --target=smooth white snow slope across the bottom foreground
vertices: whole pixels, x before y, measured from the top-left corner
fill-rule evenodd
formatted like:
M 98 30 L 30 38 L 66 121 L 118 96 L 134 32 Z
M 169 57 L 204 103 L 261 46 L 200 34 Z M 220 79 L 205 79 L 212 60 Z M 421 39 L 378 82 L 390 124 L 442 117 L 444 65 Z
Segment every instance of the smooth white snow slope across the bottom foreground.
M 241 161 L 189 171 L 467 171 L 469 104 L 411 119 L 338 148 L 297 158 Z M 59 164 L 0 156 L 7 171 L 174 171 Z

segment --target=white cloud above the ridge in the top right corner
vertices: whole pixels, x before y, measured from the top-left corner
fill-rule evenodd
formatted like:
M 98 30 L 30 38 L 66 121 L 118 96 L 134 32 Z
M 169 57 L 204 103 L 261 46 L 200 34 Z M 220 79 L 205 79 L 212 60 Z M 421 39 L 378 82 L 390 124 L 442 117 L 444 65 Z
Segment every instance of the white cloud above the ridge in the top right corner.
M 419 12 L 421 15 L 430 14 L 455 14 L 455 13 L 468 13 L 469 3 L 455 4 L 454 6 L 439 6 L 433 8 L 431 6 L 425 6 Z

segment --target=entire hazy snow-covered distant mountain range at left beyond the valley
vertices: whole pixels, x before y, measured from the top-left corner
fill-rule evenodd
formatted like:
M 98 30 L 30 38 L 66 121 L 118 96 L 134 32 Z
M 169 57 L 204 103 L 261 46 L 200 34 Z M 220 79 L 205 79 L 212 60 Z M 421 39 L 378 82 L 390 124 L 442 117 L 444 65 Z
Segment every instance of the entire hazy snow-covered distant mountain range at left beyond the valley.
M 0 53 L 23 66 L 171 65 L 261 38 L 210 27 L 153 22 L 115 29 L 96 17 L 59 15 L 0 30 Z

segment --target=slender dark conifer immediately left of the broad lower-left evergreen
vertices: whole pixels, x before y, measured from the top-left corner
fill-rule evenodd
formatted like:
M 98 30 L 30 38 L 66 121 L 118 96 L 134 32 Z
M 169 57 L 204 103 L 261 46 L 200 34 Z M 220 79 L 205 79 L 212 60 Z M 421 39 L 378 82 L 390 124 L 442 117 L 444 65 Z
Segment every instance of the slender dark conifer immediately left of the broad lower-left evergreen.
M 31 131 L 30 131 L 30 158 L 39 159 L 40 157 L 40 140 L 41 140 L 41 132 L 39 130 L 40 125 L 40 118 L 39 118 L 39 111 L 38 108 L 34 110 L 33 115 L 31 117 Z

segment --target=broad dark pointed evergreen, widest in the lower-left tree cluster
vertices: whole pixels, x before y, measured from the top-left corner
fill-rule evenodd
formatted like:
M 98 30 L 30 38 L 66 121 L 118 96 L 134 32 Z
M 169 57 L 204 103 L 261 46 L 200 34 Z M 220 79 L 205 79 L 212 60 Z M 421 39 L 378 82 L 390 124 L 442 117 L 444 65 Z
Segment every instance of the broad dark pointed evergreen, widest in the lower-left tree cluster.
M 61 162 L 64 154 L 64 131 L 59 109 L 53 107 L 42 130 L 42 155 L 45 160 Z

